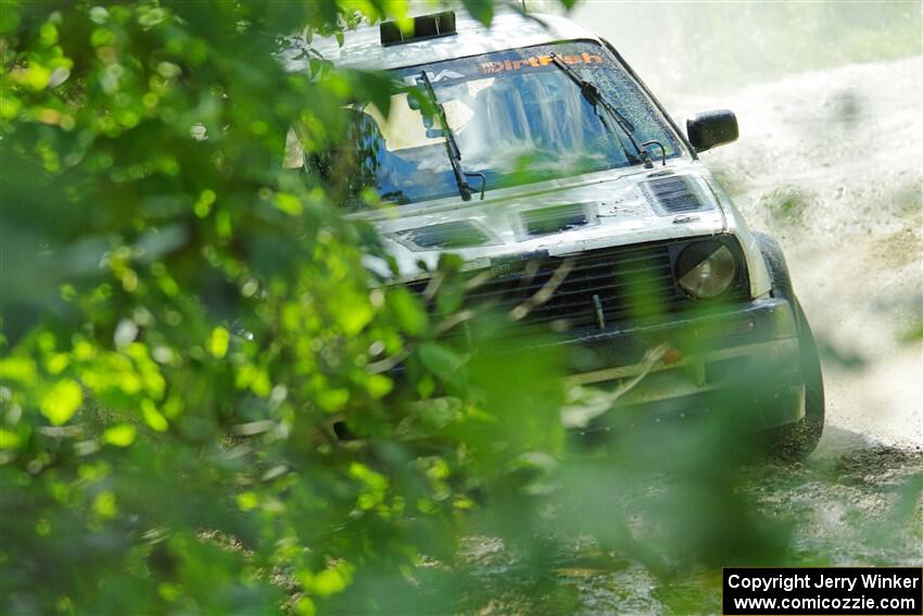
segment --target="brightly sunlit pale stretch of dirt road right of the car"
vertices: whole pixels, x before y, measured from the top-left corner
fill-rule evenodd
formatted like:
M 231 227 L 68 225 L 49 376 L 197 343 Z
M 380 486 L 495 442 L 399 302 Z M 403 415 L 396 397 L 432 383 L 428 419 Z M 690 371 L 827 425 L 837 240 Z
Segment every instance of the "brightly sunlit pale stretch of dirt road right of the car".
M 785 249 L 826 348 L 830 425 L 916 448 L 921 345 L 907 338 L 919 335 L 923 314 L 921 76 L 923 59 L 915 58 L 678 105 L 737 113 L 739 141 L 703 160 L 751 226 Z M 827 438 L 821 453 L 838 444 Z

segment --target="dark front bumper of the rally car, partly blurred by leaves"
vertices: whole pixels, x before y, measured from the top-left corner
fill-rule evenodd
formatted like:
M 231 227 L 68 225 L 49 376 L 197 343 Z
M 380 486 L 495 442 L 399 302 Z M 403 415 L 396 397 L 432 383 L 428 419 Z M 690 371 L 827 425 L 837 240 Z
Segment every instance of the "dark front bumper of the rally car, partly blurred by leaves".
M 661 420 L 720 407 L 754 429 L 805 415 L 798 325 L 785 299 L 606 330 L 572 330 L 554 345 L 566 350 L 568 385 L 608 391 L 620 415 Z M 600 424 L 585 415 L 565 414 L 564 419 L 580 430 Z

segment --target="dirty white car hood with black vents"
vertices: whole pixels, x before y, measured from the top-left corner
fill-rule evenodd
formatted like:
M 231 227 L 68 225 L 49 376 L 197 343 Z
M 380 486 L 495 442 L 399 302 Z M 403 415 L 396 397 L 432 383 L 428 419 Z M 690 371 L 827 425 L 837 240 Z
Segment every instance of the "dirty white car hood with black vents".
M 685 202 L 693 201 L 692 205 L 678 211 L 669 208 L 669 200 L 665 203 L 660 193 L 667 178 L 677 178 L 666 186 L 683 186 Z M 468 267 L 480 268 L 521 254 L 562 255 L 719 234 L 728 230 L 722 197 L 699 163 L 674 160 L 666 167 L 611 169 L 490 191 L 483 201 L 477 194 L 467 202 L 452 197 L 353 217 L 377 227 L 397 264 L 397 278 L 407 280 L 428 275 L 446 252 L 462 256 Z M 547 226 L 548 218 L 576 224 L 556 231 L 554 222 Z M 459 241 L 459 236 L 467 241 Z M 393 278 L 381 260 L 369 257 L 366 265 Z

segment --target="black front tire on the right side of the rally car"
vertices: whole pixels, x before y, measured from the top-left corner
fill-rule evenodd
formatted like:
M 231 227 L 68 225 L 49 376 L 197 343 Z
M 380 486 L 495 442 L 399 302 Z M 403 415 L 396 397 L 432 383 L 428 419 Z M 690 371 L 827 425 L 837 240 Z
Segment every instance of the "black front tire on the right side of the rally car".
M 795 424 L 770 430 L 768 450 L 773 457 L 797 462 L 818 447 L 824 427 L 824 390 L 821 360 L 811 327 L 797 300 L 793 301 L 799 322 L 800 370 L 805 379 L 805 416 Z

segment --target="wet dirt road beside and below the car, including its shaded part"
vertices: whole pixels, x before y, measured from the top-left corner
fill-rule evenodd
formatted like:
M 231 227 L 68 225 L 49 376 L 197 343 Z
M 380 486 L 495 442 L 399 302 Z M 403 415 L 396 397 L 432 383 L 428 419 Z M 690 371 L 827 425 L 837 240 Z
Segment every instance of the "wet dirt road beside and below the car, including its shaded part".
M 923 563 L 921 173 L 923 59 L 852 65 L 718 100 L 663 97 L 674 117 L 730 108 L 738 142 L 703 155 L 756 230 L 775 236 L 821 341 L 827 427 L 802 465 L 757 464 L 761 514 L 798 520 L 786 562 Z M 913 336 L 915 331 L 915 337 Z M 473 538 L 476 613 L 720 613 L 720 569 L 669 581 L 587 537 L 536 580 Z

